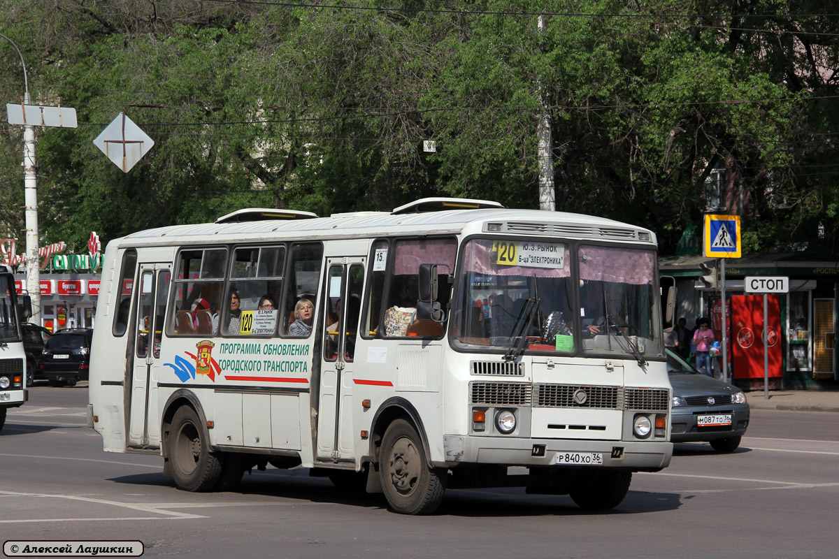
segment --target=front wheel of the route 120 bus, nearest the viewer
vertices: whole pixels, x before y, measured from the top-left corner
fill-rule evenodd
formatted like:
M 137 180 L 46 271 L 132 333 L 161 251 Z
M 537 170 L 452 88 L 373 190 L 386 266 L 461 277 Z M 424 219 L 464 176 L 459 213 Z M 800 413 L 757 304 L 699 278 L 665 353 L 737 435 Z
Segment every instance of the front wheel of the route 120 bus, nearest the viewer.
M 420 436 L 404 419 L 384 432 L 379 474 L 391 510 L 404 515 L 431 514 L 446 492 L 446 470 L 429 468 Z

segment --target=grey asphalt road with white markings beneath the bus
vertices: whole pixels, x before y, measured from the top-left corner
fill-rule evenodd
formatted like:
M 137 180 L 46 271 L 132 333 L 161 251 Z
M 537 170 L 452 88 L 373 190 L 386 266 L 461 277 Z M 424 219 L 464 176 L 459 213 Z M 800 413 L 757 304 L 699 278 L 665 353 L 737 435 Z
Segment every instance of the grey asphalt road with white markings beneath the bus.
M 566 496 L 450 490 L 437 514 L 388 512 L 305 469 L 246 474 L 237 492 L 190 494 L 162 458 L 102 452 L 87 391 L 35 386 L 0 432 L 0 541 L 139 540 L 145 556 L 836 557 L 839 416 L 753 410 L 736 453 L 676 445 L 635 474 L 616 510 Z

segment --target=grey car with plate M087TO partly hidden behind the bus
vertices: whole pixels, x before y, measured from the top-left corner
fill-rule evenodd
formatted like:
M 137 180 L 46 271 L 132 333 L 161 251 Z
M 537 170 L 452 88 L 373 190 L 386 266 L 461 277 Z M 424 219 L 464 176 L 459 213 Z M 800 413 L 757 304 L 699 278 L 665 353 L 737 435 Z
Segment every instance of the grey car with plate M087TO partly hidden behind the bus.
M 694 369 L 669 348 L 667 369 L 673 386 L 674 443 L 706 442 L 721 453 L 740 446 L 748 427 L 748 402 L 737 386 Z

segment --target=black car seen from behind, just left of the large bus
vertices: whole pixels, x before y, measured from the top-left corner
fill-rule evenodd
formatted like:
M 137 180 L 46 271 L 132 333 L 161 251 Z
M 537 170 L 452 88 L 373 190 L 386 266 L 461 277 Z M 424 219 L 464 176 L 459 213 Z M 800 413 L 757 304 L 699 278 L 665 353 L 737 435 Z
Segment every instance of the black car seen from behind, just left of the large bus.
M 93 329 L 76 328 L 55 332 L 41 355 L 44 378 L 52 386 L 76 386 L 90 374 Z

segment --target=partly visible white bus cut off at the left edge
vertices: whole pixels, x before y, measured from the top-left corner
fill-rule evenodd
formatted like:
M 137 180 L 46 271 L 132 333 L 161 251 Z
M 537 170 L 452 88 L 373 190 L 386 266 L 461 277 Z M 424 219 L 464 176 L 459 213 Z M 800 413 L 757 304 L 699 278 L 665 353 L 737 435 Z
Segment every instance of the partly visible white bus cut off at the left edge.
M 0 429 L 6 412 L 29 400 L 26 389 L 26 350 L 23 348 L 22 319 L 32 316 L 29 295 L 18 298 L 12 268 L 0 264 Z

